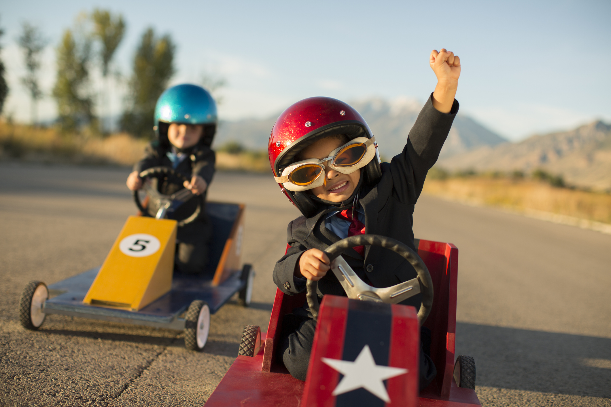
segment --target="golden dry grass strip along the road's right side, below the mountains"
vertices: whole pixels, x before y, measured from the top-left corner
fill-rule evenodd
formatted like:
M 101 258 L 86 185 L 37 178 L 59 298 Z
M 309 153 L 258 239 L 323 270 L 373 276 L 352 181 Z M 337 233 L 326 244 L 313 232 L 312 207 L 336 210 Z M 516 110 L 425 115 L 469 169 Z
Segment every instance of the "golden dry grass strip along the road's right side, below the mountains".
M 557 188 L 529 179 L 483 176 L 426 179 L 423 192 L 513 211 L 543 211 L 611 223 L 611 194 Z

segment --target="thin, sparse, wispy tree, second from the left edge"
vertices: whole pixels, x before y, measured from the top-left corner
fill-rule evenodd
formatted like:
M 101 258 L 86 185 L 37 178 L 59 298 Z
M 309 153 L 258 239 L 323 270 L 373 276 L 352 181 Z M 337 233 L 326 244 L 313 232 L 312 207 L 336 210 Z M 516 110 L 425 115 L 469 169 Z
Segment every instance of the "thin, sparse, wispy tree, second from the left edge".
M 32 124 L 38 122 L 38 100 L 42 99 L 43 93 L 38 85 L 38 70 L 40 69 L 40 53 L 47 45 L 46 38 L 42 32 L 29 23 L 23 23 L 23 32 L 17 39 L 19 46 L 23 49 L 23 60 L 26 65 L 26 76 L 21 77 L 21 83 L 30 93 Z

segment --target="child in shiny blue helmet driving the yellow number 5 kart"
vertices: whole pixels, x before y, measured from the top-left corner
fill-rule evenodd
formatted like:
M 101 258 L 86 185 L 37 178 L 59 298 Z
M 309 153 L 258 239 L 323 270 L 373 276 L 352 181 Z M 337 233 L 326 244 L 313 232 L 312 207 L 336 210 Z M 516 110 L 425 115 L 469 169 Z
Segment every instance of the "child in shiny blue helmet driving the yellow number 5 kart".
M 208 262 L 208 242 L 212 227 L 205 215 L 204 204 L 208 185 L 214 175 L 216 156 L 210 148 L 216 131 L 216 103 L 205 89 L 197 85 L 177 85 L 168 88 L 155 107 L 155 129 L 158 135 L 145 149 L 144 157 L 134 165 L 127 178 L 127 187 L 142 187 L 139 173 L 152 167 L 168 167 L 189 181 L 183 185 L 171 177 L 156 178 L 156 187 L 164 195 L 187 188 L 194 193 L 169 218 L 182 220 L 191 216 L 200 204 L 201 211 L 190 223 L 178 227 L 176 269 L 185 274 L 201 274 Z M 155 215 L 151 213 L 150 215 Z

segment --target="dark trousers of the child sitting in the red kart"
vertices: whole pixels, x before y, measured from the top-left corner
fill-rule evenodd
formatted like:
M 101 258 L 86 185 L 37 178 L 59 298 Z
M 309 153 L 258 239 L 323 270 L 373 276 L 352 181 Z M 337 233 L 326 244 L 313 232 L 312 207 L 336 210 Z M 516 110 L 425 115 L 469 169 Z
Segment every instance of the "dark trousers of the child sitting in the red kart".
M 287 314 L 282 320 L 276 357 L 284 362 L 288 372 L 296 379 L 305 381 L 315 329 L 316 321 L 309 317 Z M 420 390 L 428 386 L 437 374 L 430 355 L 431 330 L 423 326 L 420 328 Z

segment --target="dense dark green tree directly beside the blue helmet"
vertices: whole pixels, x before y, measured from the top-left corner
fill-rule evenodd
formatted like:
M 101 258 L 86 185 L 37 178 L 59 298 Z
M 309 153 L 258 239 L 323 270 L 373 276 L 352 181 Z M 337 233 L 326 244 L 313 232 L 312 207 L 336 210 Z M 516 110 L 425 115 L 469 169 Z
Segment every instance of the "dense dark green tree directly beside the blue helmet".
M 138 137 L 152 137 L 155 103 L 174 75 L 175 45 L 169 35 L 159 38 L 148 28 L 134 56 L 130 79 L 130 107 L 123 113 L 121 127 Z

